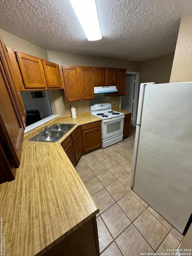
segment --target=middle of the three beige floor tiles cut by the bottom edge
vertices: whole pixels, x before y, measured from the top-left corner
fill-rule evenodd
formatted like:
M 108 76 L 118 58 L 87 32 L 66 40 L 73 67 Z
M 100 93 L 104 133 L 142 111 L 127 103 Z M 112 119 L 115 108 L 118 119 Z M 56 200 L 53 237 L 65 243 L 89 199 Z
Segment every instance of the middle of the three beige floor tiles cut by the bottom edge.
M 123 233 L 116 239 L 116 243 L 123 252 L 124 256 L 139 256 L 142 253 L 153 253 L 154 250 L 143 238 L 134 224 L 131 224 Z

